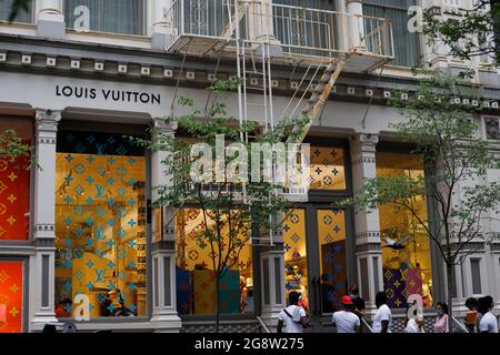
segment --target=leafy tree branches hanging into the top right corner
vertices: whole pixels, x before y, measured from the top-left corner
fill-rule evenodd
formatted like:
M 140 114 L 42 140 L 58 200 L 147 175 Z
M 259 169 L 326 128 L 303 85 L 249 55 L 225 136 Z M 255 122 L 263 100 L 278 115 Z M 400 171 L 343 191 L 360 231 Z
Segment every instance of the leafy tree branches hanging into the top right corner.
M 423 12 L 422 32 L 428 44 L 443 43 L 450 55 L 463 60 L 490 55 L 500 63 L 500 1 L 479 0 L 470 11 L 457 19 L 440 19 L 433 8 Z

